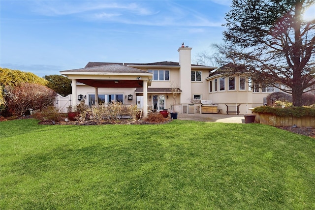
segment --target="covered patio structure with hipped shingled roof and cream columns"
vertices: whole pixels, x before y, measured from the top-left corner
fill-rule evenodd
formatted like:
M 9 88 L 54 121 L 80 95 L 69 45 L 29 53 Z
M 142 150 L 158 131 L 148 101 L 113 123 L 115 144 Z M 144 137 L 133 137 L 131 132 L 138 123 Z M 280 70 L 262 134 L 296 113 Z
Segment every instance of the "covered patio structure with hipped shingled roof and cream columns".
M 151 86 L 152 73 L 137 68 L 109 64 L 102 66 L 86 67 L 60 72 L 72 81 L 72 95 L 77 96 L 77 83 L 82 83 L 95 89 L 95 104 L 98 104 L 98 88 L 143 88 L 143 107 L 148 107 L 148 86 Z M 76 105 L 77 100 L 72 100 Z M 143 115 L 148 115 L 148 110 L 143 109 Z

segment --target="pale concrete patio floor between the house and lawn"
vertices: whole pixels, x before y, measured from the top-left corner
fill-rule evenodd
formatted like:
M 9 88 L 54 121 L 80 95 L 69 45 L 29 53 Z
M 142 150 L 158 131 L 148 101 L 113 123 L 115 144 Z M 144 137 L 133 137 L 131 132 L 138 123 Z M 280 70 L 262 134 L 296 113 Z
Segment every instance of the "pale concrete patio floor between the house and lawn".
M 178 114 L 178 120 L 195 120 L 203 122 L 245 123 L 244 115 L 221 114 Z

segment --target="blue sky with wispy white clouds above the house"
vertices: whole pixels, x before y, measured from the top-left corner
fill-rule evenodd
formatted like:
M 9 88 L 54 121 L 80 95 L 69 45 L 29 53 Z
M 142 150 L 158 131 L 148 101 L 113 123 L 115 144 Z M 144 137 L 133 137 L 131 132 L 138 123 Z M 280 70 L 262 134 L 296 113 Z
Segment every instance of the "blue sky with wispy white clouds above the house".
M 40 77 L 94 62 L 178 62 L 222 42 L 231 0 L 1 0 L 0 67 Z

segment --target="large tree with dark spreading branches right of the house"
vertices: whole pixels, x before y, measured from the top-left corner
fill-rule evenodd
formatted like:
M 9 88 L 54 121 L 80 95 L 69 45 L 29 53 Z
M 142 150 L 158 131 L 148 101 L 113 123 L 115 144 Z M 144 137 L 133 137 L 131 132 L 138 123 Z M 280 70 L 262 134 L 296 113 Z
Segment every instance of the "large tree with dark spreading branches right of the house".
M 225 18 L 224 41 L 233 46 L 233 59 L 254 82 L 286 86 L 282 90 L 292 94 L 295 106 L 302 106 L 304 92 L 315 90 L 315 19 L 303 19 L 312 4 L 315 0 L 233 0 Z

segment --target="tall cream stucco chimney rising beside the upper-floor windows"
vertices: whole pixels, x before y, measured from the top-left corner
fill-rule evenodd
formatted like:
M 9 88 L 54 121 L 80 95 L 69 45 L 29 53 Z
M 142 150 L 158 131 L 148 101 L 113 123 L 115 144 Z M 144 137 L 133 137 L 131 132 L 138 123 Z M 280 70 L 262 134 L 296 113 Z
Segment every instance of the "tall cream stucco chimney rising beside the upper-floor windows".
M 182 91 L 180 97 L 181 104 L 190 103 L 191 99 L 191 47 L 185 47 L 184 42 L 182 47 L 178 49 L 179 52 L 179 81 Z

